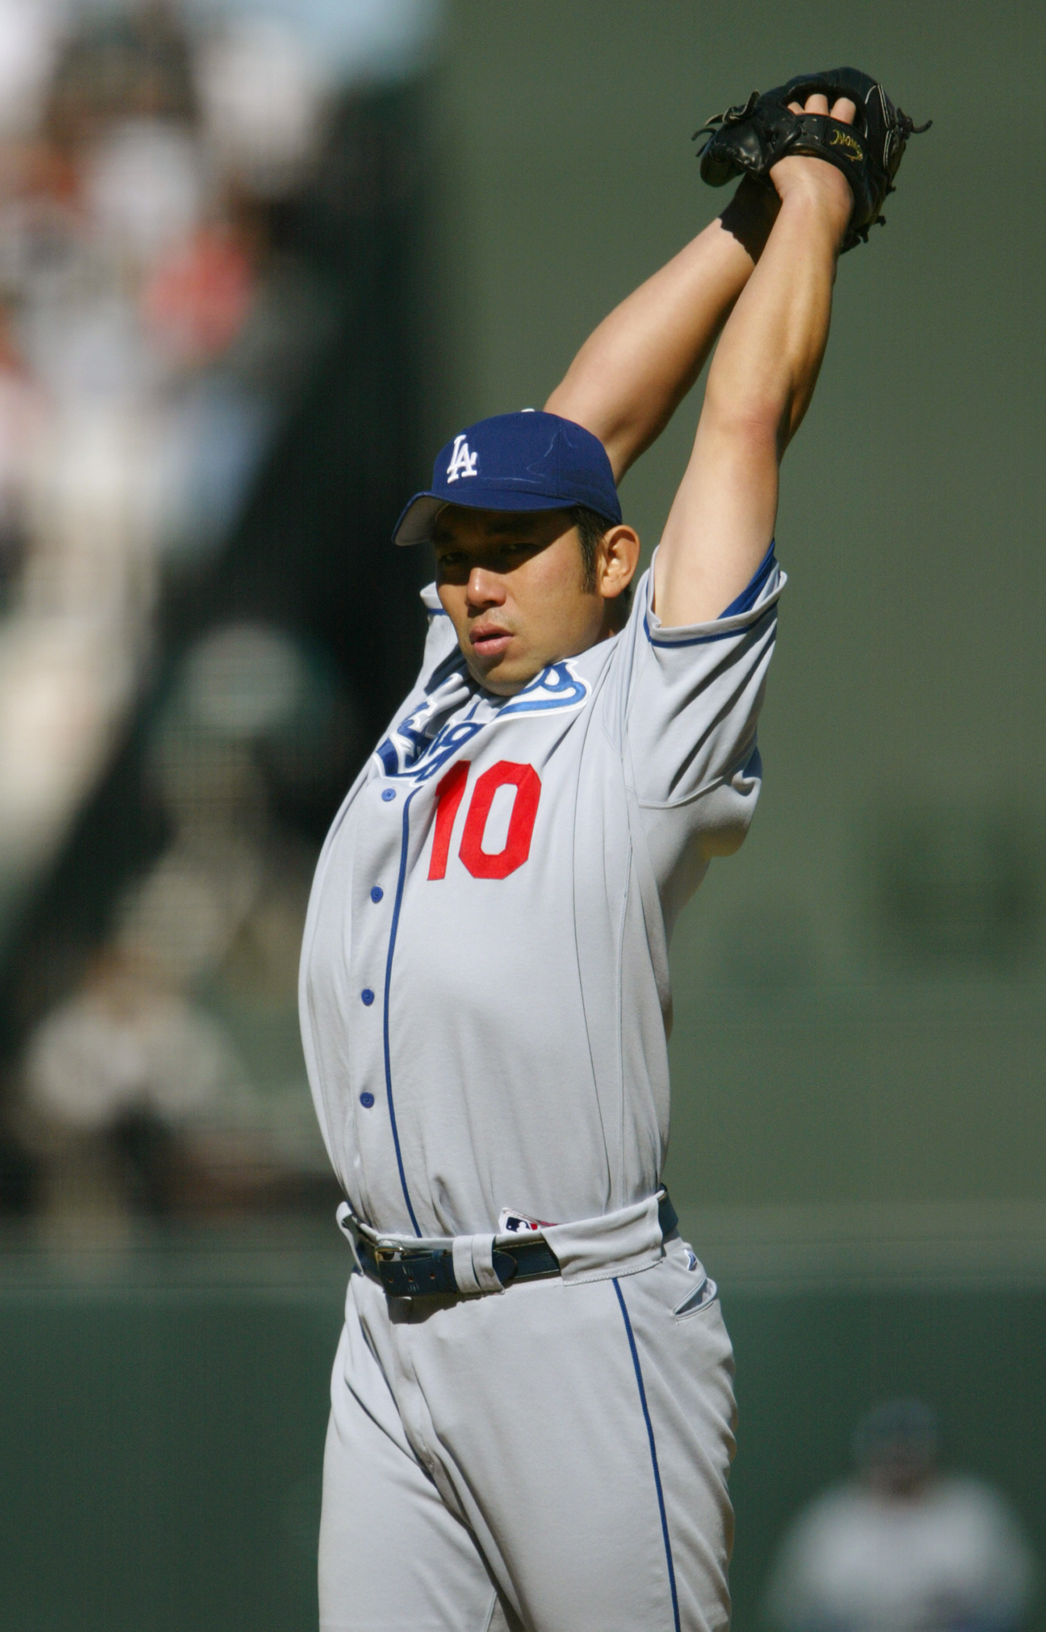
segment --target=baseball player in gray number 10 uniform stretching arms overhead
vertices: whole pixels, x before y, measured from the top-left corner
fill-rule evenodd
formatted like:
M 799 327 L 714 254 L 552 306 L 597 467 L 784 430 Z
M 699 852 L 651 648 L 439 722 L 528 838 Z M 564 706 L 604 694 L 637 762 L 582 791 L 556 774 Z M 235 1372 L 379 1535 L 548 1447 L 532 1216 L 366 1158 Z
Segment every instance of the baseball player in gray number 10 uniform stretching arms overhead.
M 778 460 L 909 131 L 853 70 L 731 109 L 705 165 L 754 180 L 397 524 L 434 547 L 428 643 L 302 953 L 354 1250 L 325 1632 L 728 1624 L 731 1348 L 659 1183 L 667 937 L 752 819 Z M 617 481 L 720 333 L 633 594 Z

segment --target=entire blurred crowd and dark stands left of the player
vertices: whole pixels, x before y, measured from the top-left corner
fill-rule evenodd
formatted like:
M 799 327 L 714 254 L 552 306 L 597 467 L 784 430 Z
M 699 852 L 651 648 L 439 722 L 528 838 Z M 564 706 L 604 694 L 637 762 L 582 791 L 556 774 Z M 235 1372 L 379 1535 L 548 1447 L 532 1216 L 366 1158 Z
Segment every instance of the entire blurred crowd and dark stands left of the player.
M 0 1211 L 33 1162 L 51 1216 L 330 1183 L 297 951 L 413 656 L 375 86 L 436 11 L 0 0 Z

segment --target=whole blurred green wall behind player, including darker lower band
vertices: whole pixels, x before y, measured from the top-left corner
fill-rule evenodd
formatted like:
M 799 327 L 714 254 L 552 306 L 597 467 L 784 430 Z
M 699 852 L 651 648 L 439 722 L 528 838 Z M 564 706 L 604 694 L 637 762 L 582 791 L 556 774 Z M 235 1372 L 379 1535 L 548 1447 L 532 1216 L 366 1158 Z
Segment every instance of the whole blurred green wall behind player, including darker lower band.
M 1046 1559 L 1044 34 L 982 0 L 452 0 L 414 85 L 419 473 L 462 423 L 540 405 L 715 214 L 687 142 L 708 114 L 852 62 L 933 118 L 840 264 L 785 467 L 759 818 L 672 948 L 667 1178 L 738 1355 L 739 1632 L 783 1524 L 898 1394 Z M 625 483 L 648 547 L 697 406 Z M 315 1624 L 344 1255 L 307 1221 L 163 1240 L 3 1258 L 18 1632 Z

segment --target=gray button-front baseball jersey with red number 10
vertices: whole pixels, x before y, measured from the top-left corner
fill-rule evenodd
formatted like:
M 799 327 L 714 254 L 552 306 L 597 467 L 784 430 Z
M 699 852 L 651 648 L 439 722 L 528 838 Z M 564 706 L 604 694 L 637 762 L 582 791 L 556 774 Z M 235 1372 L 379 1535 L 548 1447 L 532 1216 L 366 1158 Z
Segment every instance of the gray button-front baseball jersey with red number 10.
M 330 1157 L 380 1231 L 587 1219 L 651 1196 L 669 1131 L 667 938 L 760 787 L 783 574 L 720 620 L 627 627 L 516 697 L 450 620 L 317 870 L 302 1035 Z

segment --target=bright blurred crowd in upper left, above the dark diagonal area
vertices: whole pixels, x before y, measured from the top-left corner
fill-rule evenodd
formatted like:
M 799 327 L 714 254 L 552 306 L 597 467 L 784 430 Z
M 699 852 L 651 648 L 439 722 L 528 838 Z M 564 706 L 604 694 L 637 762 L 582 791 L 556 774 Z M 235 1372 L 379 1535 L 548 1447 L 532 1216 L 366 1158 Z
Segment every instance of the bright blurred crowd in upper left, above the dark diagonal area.
M 59 16 L 0 7 L 34 85 L 0 142 L 0 912 L 111 752 L 165 560 L 219 542 L 330 328 L 268 242 L 321 134 L 304 41 Z

